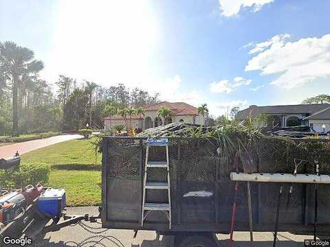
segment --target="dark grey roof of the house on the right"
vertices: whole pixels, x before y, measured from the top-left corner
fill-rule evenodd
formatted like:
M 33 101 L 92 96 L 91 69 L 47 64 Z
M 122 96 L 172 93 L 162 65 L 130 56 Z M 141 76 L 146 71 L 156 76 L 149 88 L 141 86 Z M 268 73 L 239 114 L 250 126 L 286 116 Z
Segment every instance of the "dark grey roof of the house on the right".
M 281 106 L 250 106 L 244 110 L 240 110 L 236 119 L 246 119 L 250 115 L 256 117 L 261 114 L 314 114 L 320 110 L 330 107 L 330 104 L 296 104 L 296 105 L 281 105 Z

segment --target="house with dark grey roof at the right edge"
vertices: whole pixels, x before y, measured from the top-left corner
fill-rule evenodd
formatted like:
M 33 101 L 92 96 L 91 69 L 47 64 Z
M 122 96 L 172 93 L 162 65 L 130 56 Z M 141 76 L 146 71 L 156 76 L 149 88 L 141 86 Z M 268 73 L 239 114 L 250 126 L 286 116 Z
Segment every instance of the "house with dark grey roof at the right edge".
M 316 132 L 330 131 L 330 104 L 255 106 L 240 110 L 237 120 L 258 115 L 272 116 L 271 126 L 310 126 Z

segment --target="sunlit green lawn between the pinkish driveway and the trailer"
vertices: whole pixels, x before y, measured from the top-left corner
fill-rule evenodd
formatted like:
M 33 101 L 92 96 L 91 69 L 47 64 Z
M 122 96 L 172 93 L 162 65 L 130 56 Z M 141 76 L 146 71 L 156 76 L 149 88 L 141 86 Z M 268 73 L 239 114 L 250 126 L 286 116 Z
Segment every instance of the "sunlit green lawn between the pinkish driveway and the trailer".
M 67 206 L 96 206 L 101 203 L 101 155 L 90 140 L 65 141 L 22 155 L 24 163 L 44 163 L 52 167 L 48 185 L 64 188 Z

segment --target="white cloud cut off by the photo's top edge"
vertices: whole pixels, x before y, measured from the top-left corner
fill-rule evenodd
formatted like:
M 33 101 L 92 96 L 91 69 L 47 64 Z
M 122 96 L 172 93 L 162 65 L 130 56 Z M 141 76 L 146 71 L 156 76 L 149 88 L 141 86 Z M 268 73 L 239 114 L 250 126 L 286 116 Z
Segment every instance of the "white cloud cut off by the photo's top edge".
M 257 12 L 263 5 L 272 3 L 274 0 L 219 0 L 221 14 L 226 17 L 234 16 L 239 13 L 241 8 L 253 8 Z

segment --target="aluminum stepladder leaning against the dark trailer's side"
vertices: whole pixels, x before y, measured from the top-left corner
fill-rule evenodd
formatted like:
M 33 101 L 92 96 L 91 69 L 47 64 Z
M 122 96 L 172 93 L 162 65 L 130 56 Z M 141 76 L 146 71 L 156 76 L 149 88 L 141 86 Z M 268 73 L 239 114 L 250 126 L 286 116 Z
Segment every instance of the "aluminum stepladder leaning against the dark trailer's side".
M 166 148 L 166 161 L 149 161 L 149 148 L 152 146 L 164 146 Z M 167 181 L 166 182 L 148 182 L 148 168 L 153 169 L 166 169 Z M 167 189 L 168 191 L 168 203 L 148 203 L 146 202 L 146 190 L 147 189 Z M 169 228 L 171 224 L 171 208 L 170 208 L 170 167 L 168 162 L 168 139 L 153 139 L 148 138 L 146 140 L 146 163 L 144 165 L 144 182 L 143 182 L 143 202 L 142 202 L 142 217 L 141 226 L 143 222 L 152 211 L 162 211 L 166 214 L 169 222 Z

